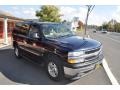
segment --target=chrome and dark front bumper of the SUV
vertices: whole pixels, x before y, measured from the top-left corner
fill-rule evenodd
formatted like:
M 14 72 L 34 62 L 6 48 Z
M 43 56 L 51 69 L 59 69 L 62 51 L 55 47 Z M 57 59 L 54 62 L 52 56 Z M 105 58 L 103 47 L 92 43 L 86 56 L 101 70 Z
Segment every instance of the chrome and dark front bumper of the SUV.
M 90 60 L 77 65 L 78 67 L 72 68 L 72 67 L 64 66 L 65 77 L 70 78 L 72 80 L 79 79 L 80 77 L 95 70 L 96 66 L 102 63 L 102 60 L 103 60 L 103 55 L 101 54 L 99 55 L 99 57 L 97 57 L 94 60 Z

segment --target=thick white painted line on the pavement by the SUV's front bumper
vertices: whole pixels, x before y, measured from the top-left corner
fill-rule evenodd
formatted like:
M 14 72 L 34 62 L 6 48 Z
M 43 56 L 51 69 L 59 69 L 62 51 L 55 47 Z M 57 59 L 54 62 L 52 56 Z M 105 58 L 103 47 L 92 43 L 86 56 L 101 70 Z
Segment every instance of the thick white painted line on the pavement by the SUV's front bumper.
M 109 66 L 108 66 L 107 61 L 106 61 L 105 58 L 103 59 L 102 64 L 103 64 L 104 70 L 106 71 L 106 73 L 107 73 L 107 75 L 108 75 L 108 77 L 109 77 L 112 85 L 119 85 L 117 79 L 115 78 L 115 76 L 111 72 L 111 70 L 110 70 L 110 68 L 109 68 Z

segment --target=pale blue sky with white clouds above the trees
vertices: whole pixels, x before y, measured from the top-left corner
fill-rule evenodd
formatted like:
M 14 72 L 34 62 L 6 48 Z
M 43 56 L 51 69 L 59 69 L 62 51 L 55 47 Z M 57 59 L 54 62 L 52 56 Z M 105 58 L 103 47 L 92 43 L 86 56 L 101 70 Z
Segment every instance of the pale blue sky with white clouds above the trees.
M 0 10 L 9 12 L 13 16 L 24 19 L 37 19 L 36 10 L 40 10 L 40 5 L 0 5 Z M 73 17 L 79 17 L 84 23 L 87 13 L 86 6 L 83 5 L 59 5 L 62 20 L 71 21 Z M 120 6 L 117 5 L 96 5 L 91 12 L 88 24 L 101 25 L 115 19 L 120 22 Z

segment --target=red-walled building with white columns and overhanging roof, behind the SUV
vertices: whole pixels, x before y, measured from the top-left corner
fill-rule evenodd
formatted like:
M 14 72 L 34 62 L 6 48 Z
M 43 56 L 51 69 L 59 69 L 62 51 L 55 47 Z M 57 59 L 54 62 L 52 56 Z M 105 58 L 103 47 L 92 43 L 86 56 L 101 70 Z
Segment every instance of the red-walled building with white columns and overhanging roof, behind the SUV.
M 10 13 L 0 11 L 0 43 L 8 44 L 8 38 L 11 37 L 15 23 L 21 21 L 23 21 L 23 19 L 17 18 Z

